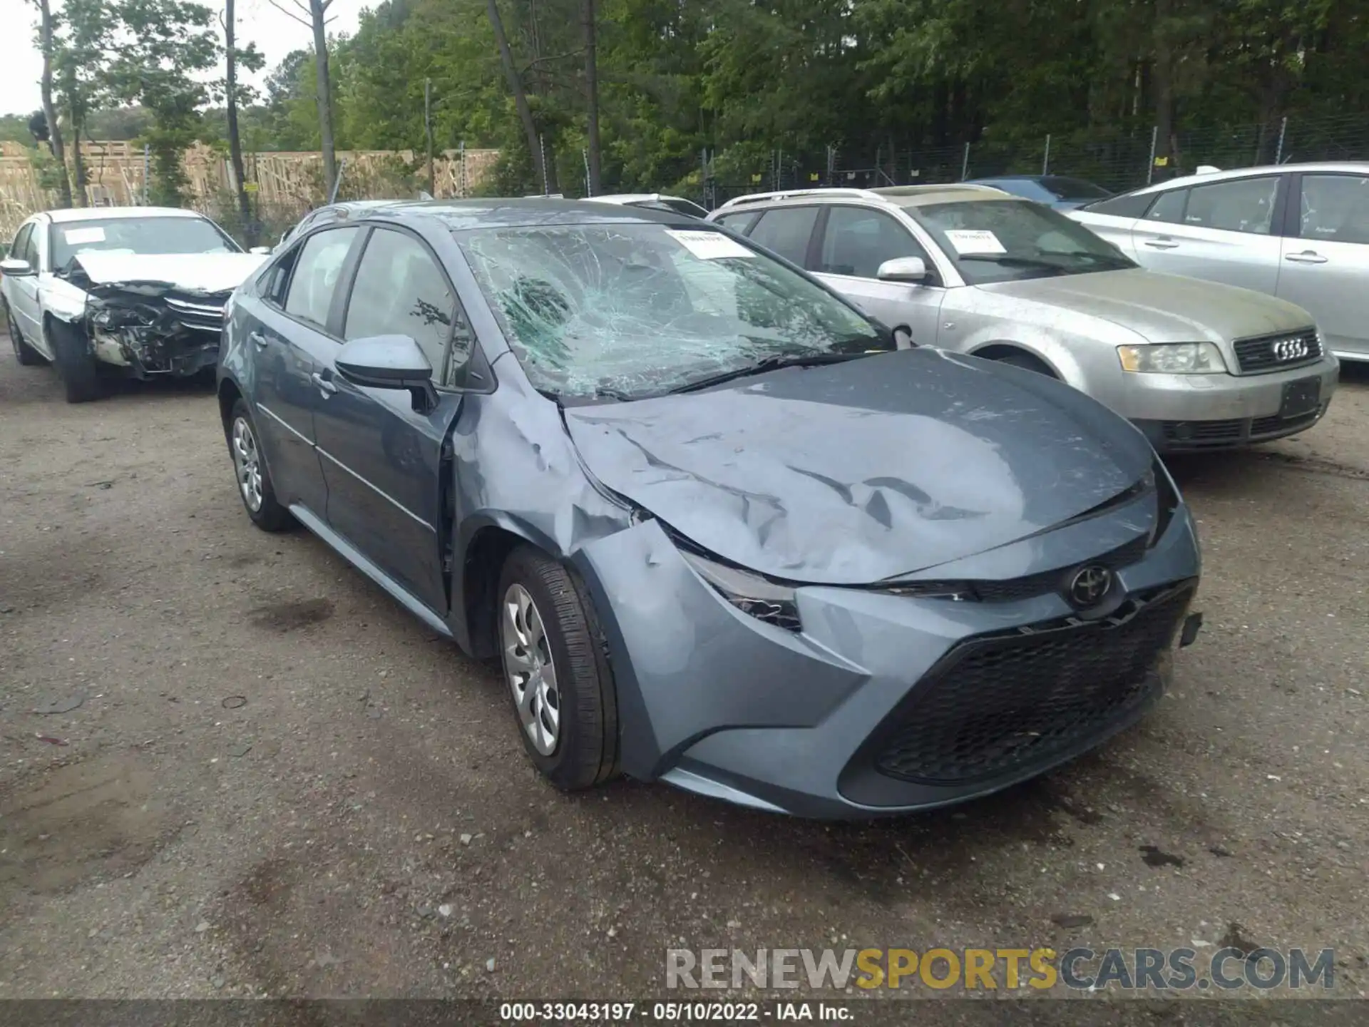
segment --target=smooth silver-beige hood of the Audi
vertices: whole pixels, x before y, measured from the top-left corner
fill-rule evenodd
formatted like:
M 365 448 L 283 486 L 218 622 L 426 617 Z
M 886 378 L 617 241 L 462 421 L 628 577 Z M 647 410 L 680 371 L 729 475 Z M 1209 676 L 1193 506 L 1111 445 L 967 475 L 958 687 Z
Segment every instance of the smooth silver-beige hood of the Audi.
M 976 286 L 1139 331 L 1151 342 L 1221 342 L 1313 325 L 1301 307 L 1264 293 L 1144 268 Z

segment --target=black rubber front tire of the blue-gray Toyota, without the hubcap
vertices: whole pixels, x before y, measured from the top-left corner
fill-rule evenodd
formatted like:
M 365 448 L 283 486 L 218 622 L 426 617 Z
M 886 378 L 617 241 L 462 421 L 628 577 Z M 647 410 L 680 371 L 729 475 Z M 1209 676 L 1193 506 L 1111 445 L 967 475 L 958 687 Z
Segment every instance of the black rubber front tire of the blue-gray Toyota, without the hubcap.
M 515 674 L 511 670 L 507 604 L 522 587 L 539 619 L 545 646 L 539 659 L 552 663 L 556 678 L 559 730 L 552 752 L 541 752 L 519 712 Z M 608 663 L 604 635 L 594 605 L 571 572 L 543 552 L 520 545 L 500 575 L 496 593 L 501 672 L 523 748 L 537 770 L 563 791 L 602 785 L 619 774 L 617 692 Z

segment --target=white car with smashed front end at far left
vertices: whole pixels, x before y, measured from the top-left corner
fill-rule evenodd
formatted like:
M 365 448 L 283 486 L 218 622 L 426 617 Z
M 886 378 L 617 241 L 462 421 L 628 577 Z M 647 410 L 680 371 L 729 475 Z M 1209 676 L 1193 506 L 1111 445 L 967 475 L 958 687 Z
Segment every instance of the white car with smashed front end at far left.
M 0 311 L 21 364 L 52 363 L 68 403 L 107 377 L 212 371 L 223 305 L 267 259 L 170 207 L 36 214 L 0 262 Z

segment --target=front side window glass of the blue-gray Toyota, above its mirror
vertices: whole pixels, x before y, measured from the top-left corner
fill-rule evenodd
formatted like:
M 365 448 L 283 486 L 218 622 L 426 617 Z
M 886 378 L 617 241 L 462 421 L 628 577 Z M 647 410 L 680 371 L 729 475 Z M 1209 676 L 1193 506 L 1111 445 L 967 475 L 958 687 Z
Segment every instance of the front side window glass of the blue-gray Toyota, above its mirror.
M 445 357 L 455 315 L 456 296 L 433 255 L 412 236 L 376 229 L 356 268 L 345 337 L 408 335 L 427 356 L 434 378 L 449 383 Z M 463 326 L 453 344 L 453 367 L 465 363 L 470 346 Z

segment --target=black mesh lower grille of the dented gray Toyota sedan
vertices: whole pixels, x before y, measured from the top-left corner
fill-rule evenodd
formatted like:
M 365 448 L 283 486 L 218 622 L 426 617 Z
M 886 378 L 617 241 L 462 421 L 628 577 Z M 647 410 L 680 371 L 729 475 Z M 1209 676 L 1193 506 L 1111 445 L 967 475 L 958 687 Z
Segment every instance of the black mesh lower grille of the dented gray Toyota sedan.
M 914 686 L 882 731 L 876 768 L 964 783 L 1050 760 L 1146 702 L 1190 589 L 1095 623 L 967 642 Z

